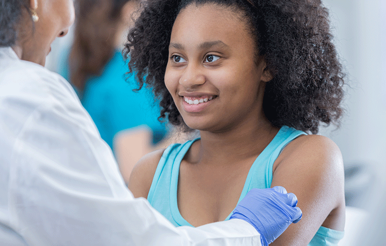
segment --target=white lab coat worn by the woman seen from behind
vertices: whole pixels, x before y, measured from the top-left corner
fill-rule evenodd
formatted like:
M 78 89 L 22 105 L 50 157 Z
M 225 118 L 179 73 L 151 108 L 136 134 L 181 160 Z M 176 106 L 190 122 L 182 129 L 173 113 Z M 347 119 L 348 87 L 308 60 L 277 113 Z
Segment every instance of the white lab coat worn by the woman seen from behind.
M 259 246 L 260 236 L 240 219 L 176 228 L 134 199 L 69 83 L 8 47 L 0 48 L 0 242 Z

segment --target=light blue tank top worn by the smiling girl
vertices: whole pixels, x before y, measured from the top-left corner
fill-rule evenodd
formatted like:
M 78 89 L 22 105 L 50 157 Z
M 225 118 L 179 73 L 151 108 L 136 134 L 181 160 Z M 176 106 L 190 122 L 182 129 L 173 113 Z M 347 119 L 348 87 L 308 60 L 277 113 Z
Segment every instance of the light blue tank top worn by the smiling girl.
M 273 163 L 284 147 L 302 134 L 306 133 L 288 126 L 280 128 L 274 139 L 252 164 L 238 202 L 253 188 L 262 189 L 271 186 Z M 180 163 L 193 142 L 198 139 L 184 144 L 172 144 L 163 152 L 147 197 L 150 204 L 175 226 L 192 226 L 178 210 L 177 185 Z M 225 220 L 229 219 L 229 216 Z M 342 231 L 321 226 L 308 246 L 336 246 L 343 235 Z

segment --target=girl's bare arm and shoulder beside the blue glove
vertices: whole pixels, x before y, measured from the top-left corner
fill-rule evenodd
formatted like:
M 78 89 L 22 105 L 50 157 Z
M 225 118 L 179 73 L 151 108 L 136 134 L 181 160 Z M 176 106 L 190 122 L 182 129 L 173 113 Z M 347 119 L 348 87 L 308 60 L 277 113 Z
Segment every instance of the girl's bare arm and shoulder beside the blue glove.
M 276 162 L 271 186 L 281 185 L 294 193 L 303 217 L 271 246 L 306 246 L 334 209 L 344 211 L 342 155 L 330 139 L 309 135 L 293 140 Z M 331 229 L 343 231 L 344 215 L 339 217 Z

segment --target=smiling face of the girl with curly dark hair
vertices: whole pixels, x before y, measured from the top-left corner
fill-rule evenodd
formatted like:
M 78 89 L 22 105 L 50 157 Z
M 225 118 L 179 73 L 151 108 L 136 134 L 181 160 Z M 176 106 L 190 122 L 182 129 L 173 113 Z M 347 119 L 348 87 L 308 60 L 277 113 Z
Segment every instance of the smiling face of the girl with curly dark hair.
M 170 37 L 165 85 L 193 129 L 223 132 L 264 118 L 263 59 L 240 14 L 214 5 L 188 5 Z

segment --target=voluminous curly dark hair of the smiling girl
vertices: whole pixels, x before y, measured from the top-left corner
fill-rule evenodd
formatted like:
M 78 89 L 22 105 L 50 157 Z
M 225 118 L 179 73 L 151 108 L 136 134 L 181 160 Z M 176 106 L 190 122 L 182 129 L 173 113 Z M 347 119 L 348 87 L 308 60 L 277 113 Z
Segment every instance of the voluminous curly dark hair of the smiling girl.
M 263 111 L 274 126 L 317 133 L 321 123 L 339 125 L 344 73 L 321 0 L 148 0 L 124 51 L 139 88 L 152 88 L 161 100 L 161 118 L 185 124 L 164 75 L 173 23 L 189 4 L 217 4 L 249 26 L 256 55 L 273 75 L 266 83 Z

